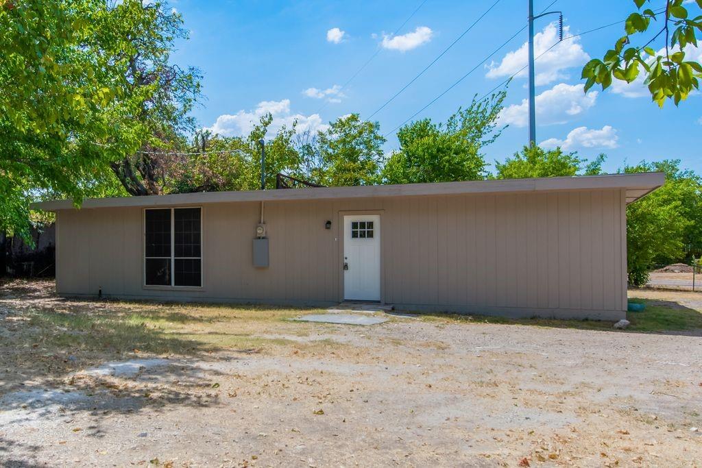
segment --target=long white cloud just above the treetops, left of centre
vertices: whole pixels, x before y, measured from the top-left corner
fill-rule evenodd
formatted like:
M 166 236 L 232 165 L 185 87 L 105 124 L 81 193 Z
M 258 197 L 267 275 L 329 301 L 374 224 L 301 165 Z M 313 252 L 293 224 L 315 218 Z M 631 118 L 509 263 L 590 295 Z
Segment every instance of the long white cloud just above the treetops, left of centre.
M 302 132 L 307 129 L 311 131 L 326 130 L 329 126 L 322 122 L 319 114 L 303 115 L 291 114 L 290 100 L 261 101 L 252 111 L 240 110 L 236 114 L 223 114 L 217 117 L 213 126 L 207 128 L 212 133 L 217 133 L 225 137 L 246 136 L 251 133 L 253 126 L 264 114 L 273 116 L 273 121 L 268 127 L 268 135 L 273 135 L 282 126 L 291 128 L 293 122 L 297 121 L 297 131 Z

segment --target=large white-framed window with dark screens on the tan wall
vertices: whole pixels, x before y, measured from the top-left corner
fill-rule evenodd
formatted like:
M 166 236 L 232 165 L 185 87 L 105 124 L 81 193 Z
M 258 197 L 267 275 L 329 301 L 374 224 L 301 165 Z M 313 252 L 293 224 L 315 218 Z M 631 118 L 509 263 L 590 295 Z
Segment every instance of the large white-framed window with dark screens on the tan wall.
M 201 209 L 145 210 L 147 286 L 202 286 Z

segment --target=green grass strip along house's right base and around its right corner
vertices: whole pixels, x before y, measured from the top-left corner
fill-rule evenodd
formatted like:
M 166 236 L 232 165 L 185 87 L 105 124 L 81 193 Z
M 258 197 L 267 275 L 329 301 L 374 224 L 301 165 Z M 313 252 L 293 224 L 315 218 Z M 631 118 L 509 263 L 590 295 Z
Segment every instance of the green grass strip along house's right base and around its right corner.
M 675 302 L 634 299 L 646 305 L 643 312 L 627 312 L 626 318 L 631 322 L 627 331 L 641 333 L 663 333 L 668 331 L 702 329 L 702 312 Z M 498 316 L 462 315 L 462 314 L 421 314 L 423 321 L 501 323 L 524 326 L 543 326 L 550 328 L 576 328 L 578 330 L 612 330 L 614 322 L 600 320 L 563 320 L 563 319 L 508 319 Z

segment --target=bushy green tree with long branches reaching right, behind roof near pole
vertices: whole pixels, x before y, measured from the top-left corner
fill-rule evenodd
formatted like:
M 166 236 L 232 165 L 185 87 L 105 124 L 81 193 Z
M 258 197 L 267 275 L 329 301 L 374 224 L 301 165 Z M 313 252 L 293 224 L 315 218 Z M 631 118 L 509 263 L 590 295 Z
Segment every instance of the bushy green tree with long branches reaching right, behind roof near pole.
M 479 180 L 486 175 L 482 147 L 498 138 L 494 132 L 505 93 L 486 100 L 473 98 L 444 123 L 423 119 L 409 123 L 397 133 L 399 150 L 383 168 L 388 184 Z

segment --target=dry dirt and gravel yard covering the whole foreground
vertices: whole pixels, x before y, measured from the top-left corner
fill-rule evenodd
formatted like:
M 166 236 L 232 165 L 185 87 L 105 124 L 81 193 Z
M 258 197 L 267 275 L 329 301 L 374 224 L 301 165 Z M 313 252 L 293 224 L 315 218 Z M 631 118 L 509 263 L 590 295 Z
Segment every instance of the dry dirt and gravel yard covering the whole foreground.
M 6 466 L 701 465 L 700 293 L 637 290 L 647 312 L 615 331 L 300 323 L 52 287 L 0 291 Z

